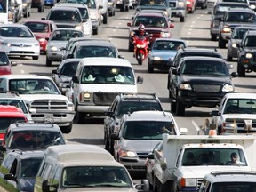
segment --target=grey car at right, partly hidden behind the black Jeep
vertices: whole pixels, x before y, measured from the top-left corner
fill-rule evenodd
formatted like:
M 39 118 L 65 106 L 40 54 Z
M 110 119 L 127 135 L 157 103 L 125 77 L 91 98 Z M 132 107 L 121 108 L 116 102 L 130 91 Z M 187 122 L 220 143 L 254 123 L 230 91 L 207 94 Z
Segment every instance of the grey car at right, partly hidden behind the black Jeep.
M 232 34 L 230 38 L 228 39 L 228 44 L 227 44 L 227 60 L 232 61 L 233 58 L 237 58 L 237 44 L 240 44 L 242 41 L 242 38 L 248 30 L 255 30 L 256 31 L 256 26 L 255 27 L 250 27 L 250 26 L 240 26 L 234 28 L 232 31 Z

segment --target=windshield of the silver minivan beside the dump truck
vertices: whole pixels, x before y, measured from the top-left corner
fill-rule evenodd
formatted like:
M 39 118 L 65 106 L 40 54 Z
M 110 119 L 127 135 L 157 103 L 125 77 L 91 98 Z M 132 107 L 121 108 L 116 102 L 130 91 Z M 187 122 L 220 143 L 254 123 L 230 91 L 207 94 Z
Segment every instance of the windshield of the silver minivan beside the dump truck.
M 123 138 L 126 140 L 162 140 L 164 132 L 176 135 L 172 122 L 131 121 L 124 124 Z

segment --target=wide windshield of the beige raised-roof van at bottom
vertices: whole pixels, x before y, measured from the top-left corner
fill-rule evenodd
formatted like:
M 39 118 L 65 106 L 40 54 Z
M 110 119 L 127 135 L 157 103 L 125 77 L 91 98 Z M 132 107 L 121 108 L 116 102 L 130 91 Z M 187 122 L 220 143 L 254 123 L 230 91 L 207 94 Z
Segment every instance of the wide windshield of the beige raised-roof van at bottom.
M 62 174 L 63 188 L 133 188 L 123 167 L 76 166 L 66 167 Z

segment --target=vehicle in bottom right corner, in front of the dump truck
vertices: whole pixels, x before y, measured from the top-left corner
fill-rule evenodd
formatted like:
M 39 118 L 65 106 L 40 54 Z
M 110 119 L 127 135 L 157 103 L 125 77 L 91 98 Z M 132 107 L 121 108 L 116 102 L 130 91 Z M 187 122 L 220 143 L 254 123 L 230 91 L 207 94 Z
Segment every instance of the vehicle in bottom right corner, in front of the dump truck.
M 253 191 L 255 180 L 252 171 L 213 171 L 204 176 L 199 192 Z

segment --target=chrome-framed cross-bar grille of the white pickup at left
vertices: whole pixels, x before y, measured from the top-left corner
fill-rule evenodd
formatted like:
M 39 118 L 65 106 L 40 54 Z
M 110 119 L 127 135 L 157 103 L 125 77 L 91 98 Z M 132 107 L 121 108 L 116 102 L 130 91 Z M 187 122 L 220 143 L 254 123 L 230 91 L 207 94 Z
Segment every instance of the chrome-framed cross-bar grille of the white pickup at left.
M 63 100 L 34 100 L 31 103 L 31 108 L 36 110 L 67 110 L 68 105 Z

